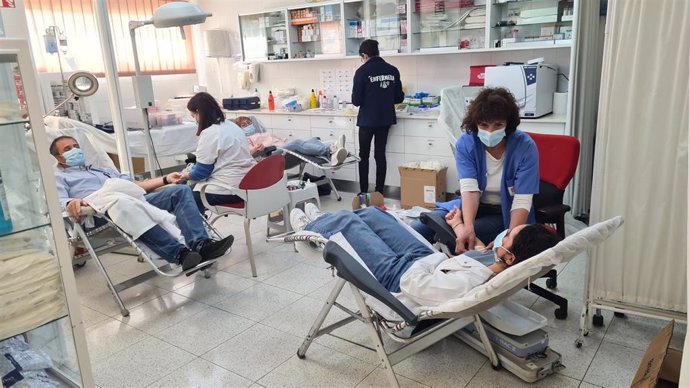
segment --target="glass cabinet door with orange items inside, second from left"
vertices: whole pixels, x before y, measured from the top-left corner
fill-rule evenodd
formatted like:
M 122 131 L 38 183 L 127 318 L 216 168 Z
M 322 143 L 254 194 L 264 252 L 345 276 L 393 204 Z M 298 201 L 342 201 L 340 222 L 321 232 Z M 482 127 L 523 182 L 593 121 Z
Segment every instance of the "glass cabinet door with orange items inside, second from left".
M 292 58 L 316 58 L 344 54 L 340 3 L 290 9 Z

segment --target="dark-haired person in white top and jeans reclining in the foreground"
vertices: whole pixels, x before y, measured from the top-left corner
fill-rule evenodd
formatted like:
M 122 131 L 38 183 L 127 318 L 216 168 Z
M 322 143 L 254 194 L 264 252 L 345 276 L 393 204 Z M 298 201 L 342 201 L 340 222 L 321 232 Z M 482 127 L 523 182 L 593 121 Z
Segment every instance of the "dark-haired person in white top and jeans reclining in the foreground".
M 355 212 L 321 213 L 313 204 L 307 214 L 295 208 L 293 229 L 330 238 L 342 233 L 376 279 L 411 311 L 460 298 L 506 268 L 558 243 L 543 225 L 519 225 L 501 232 L 491 247 L 495 261 L 486 265 L 472 252 L 448 258 L 417 240 L 390 214 L 376 207 Z M 447 220 L 449 224 L 455 220 Z

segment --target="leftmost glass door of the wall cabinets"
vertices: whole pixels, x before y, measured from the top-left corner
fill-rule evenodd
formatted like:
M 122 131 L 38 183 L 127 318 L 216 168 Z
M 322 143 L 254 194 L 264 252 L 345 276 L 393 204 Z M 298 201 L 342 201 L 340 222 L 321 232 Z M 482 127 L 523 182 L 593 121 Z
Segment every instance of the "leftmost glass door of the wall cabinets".
M 285 11 L 240 16 L 245 61 L 290 58 Z

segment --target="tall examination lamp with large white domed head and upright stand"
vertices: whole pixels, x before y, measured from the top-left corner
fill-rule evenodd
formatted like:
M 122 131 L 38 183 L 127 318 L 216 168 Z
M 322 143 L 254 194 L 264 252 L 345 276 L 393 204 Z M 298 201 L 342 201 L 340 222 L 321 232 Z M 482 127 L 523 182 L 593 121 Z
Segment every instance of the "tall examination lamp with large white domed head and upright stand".
M 129 36 L 132 39 L 132 51 L 134 52 L 134 97 L 137 108 L 141 109 L 144 119 L 144 132 L 146 136 L 146 151 L 149 162 L 151 176 L 156 176 L 156 169 L 153 161 L 154 150 L 151 135 L 149 133 L 149 118 L 147 108 L 154 104 L 153 83 L 150 76 L 142 76 L 139 66 L 139 54 L 137 52 L 137 41 L 134 30 L 147 24 L 153 24 L 156 28 L 180 27 L 182 39 L 185 39 L 184 26 L 199 24 L 206 21 L 211 16 L 210 13 L 202 11 L 196 4 L 176 1 L 164 4 L 153 12 L 153 17 L 149 20 L 129 22 Z

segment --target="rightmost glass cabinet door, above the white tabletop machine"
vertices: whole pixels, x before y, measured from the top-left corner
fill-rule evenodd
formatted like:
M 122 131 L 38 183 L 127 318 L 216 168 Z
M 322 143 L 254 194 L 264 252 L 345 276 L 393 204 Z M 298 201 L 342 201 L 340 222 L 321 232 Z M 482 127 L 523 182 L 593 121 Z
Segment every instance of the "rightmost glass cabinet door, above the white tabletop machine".
M 570 44 L 572 0 L 501 1 L 491 5 L 493 47 Z

